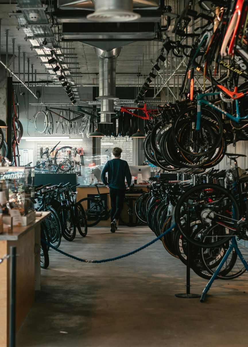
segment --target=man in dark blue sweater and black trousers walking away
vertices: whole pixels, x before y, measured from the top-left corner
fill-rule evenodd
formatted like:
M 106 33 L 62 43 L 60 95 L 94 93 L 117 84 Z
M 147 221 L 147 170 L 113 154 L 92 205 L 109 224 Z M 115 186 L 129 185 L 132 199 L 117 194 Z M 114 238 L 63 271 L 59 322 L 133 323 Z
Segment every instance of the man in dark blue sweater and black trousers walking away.
M 131 184 L 131 172 L 128 166 L 128 163 L 125 160 L 120 159 L 122 149 L 119 147 L 114 147 L 112 150 L 114 159 L 106 162 L 102 170 L 102 182 L 106 187 L 109 188 L 109 195 L 111 201 L 111 232 L 115 232 L 117 229 L 116 223 L 121 214 L 123 208 L 123 202 L 125 198 L 126 184 L 125 178 L 127 181 L 127 190 Z M 108 182 L 106 180 L 106 172 L 108 172 Z

